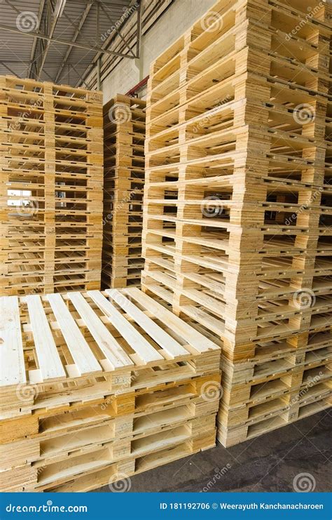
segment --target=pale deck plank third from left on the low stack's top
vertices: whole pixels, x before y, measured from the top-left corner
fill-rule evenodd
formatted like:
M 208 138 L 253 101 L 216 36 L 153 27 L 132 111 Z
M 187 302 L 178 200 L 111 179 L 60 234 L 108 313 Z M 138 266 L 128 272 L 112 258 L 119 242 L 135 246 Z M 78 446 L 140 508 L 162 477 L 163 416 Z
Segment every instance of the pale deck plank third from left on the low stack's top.
M 49 294 L 47 299 L 80 375 L 102 371 L 102 367 L 92 354 L 88 343 L 76 325 L 76 321 L 71 316 L 64 300 L 62 300 L 62 296 L 60 294 Z

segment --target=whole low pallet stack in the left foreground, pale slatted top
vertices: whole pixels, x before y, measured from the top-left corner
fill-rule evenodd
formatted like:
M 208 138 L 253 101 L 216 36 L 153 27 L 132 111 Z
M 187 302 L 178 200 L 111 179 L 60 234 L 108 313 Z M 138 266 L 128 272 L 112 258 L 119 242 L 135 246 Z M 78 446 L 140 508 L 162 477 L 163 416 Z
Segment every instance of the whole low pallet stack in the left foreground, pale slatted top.
M 0 298 L 1 491 L 90 491 L 215 445 L 220 349 L 138 288 Z

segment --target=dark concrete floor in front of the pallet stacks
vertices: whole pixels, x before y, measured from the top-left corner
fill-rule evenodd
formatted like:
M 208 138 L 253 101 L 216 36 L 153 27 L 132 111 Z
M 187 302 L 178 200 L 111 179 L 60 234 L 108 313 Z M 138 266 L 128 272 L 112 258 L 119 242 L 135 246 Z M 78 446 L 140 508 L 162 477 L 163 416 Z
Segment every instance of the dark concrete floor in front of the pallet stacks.
M 330 491 L 331 426 L 330 408 L 232 448 L 218 444 L 132 476 L 126 488 L 130 492 L 294 491 L 294 477 L 306 473 L 315 483 L 312 491 Z

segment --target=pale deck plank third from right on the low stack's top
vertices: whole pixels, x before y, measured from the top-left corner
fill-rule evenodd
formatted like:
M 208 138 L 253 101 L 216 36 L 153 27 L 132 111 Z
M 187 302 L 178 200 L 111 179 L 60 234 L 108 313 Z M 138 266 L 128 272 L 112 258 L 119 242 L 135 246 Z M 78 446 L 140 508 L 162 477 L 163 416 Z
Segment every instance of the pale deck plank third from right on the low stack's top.
M 100 291 L 88 291 L 88 295 L 98 305 L 99 309 L 102 309 L 102 312 L 109 316 L 111 324 L 125 338 L 130 347 L 139 354 L 144 363 L 164 359 Z

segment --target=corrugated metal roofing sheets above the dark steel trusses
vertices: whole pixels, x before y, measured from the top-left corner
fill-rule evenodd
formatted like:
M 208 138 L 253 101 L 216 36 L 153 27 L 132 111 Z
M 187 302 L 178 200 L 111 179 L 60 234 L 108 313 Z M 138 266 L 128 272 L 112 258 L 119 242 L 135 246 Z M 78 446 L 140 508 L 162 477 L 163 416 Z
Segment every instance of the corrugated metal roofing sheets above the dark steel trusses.
M 156 4 L 158 1 L 151 0 Z M 114 25 L 120 27 L 131 16 L 137 16 L 137 2 L 133 0 L 67 0 L 57 19 L 53 13 L 56 4 L 57 0 L 1 1 L 0 74 L 34 77 L 34 67 L 38 74 L 45 57 L 38 79 L 74 86 L 95 58 L 95 47 L 111 44 L 117 34 Z M 36 32 L 52 40 L 36 39 Z M 76 45 L 93 49 L 67 46 L 58 40 L 75 41 Z

